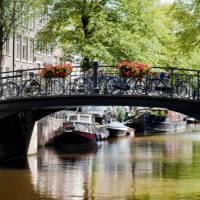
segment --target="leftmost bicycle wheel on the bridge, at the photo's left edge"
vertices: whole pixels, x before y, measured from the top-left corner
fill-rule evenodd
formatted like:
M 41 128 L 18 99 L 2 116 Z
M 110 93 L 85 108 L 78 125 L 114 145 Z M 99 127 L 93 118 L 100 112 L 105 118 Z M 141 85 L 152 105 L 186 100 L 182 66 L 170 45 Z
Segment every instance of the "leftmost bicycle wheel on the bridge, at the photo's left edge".
M 7 82 L 2 85 L 2 98 L 12 99 L 19 96 L 19 86 L 15 82 Z

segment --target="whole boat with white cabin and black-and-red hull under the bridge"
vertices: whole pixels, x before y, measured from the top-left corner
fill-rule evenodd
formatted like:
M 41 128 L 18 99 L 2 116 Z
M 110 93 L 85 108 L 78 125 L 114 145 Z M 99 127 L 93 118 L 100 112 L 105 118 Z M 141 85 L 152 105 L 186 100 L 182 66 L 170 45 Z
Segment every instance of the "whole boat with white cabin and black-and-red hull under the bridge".
M 96 145 L 94 117 L 86 114 L 70 114 L 61 124 L 54 138 L 57 147 Z

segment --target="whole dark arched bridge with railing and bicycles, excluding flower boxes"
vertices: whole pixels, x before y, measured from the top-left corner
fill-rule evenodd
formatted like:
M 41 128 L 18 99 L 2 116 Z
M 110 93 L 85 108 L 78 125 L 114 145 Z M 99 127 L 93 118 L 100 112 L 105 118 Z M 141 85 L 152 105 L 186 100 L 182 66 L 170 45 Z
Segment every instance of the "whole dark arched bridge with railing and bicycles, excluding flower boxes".
M 92 73 L 67 78 L 44 79 L 38 69 L 2 73 L 0 159 L 25 155 L 35 122 L 66 106 L 165 107 L 200 119 L 200 71 L 155 68 L 145 77 L 124 78 L 96 64 Z

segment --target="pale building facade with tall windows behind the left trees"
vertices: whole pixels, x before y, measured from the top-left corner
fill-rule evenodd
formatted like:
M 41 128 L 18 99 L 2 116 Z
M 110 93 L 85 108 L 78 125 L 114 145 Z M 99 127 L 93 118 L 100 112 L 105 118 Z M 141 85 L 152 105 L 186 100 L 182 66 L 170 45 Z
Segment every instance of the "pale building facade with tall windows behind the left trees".
M 59 64 L 60 49 L 52 49 L 50 45 L 36 49 L 36 35 L 47 23 L 47 17 L 32 18 L 24 24 L 24 31 L 16 34 L 4 45 L 2 71 L 41 68 L 44 64 Z

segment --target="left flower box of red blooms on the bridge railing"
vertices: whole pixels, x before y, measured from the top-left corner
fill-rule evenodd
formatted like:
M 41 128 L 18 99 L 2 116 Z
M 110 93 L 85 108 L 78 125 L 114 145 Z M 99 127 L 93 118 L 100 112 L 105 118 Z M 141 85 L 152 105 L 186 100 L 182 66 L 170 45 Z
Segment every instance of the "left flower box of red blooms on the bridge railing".
M 40 70 L 40 76 L 43 78 L 65 78 L 72 73 L 72 69 L 70 64 L 47 65 Z

